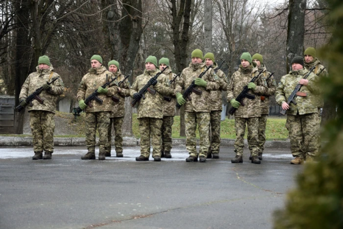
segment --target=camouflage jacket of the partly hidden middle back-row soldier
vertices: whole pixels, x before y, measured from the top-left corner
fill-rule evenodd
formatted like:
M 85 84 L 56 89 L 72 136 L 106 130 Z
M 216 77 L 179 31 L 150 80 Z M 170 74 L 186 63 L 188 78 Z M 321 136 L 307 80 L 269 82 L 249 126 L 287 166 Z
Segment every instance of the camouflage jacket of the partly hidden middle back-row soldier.
M 212 66 L 213 70 L 216 70 L 218 68 L 218 65 L 215 63 Z M 217 91 L 210 91 L 210 109 L 212 110 L 221 110 L 221 91 L 227 91 L 227 78 L 225 76 L 225 73 L 221 71 L 220 69 L 217 71 L 216 75 L 218 76 L 218 82 L 219 82 L 219 89 Z

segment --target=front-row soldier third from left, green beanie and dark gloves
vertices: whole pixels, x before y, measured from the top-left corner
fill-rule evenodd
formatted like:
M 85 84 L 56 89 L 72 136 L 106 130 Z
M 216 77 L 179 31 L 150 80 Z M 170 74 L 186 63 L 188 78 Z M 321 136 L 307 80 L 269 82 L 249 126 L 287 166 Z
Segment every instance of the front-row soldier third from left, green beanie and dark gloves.
M 163 96 L 172 95 L 173 90 L 169 87 L 167 76 L 161 74 L 157 79 L 153 77 L 159 73 L 157 59 L 155 56 L 148 56 L 146 59 L 146 69 L 144 73 L 136 77 L 130 88 L 130 95 L 138 101 L 137 119 L 141 134 L 141 155 L 136 157 L 136 161 L 148 161 L 150 156 L 150 136 L 152 144 L 152 157 L 154 161 L 161 161 L 161 127 L 163 122 Z M 150 88 L 156 93 L 147 92 L 145 99 L 139 91 L 150 82 Z

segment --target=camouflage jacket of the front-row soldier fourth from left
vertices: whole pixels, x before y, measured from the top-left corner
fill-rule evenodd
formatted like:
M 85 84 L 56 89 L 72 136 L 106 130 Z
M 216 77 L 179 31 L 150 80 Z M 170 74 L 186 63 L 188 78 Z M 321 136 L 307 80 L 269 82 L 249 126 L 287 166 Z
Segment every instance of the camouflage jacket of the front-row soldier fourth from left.
M 193 80 L 195 80 L 203 71 L 206 70 L 205 63 L 200 64 L 189 64 L 188 68 L 182 70 L 180 79 L 176 83 L 175 95 L 176 93 L 182 93 L 183 90 L 187 89 Z M 185 106 L 185 111 L 187 112 L 210 112 L 211 99 L 210 91 L 218 90 L 220 85 L 217 80 L 219 77 L 214 74 L 214 70 L 208 70 L 202 79 L 207 82 L 206 88 L 196 86 L 197 90 L 202 92 L 201 95 L 196 95 L 196 93 L 191 94 L 191 101 L 187 101 Z

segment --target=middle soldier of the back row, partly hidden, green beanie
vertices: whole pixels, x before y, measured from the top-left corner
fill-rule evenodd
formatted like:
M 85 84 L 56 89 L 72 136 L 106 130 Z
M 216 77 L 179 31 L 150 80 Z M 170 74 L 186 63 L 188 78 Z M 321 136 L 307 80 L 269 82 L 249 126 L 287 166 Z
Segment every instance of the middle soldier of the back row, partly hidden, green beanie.
M 217 70 L 214 54 L 207 52 L 204 55 L 206 67 L 212 65 L 213 70 Z M 223 71 L 218 69 L 216 75 L 219 77 L 220 88 L 217 91 L 210 91 L 210 124 L 212 138 L 210 137 L 210 149 L 207 158 L 219 158 L 219 146 L 221 144 L 221 91 L 227 90 L 227 79 Z

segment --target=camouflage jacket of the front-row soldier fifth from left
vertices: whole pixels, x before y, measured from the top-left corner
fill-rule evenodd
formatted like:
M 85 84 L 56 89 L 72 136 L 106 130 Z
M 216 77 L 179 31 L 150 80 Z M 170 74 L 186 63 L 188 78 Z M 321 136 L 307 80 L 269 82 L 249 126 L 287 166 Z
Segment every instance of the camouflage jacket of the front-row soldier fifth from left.
M 227 101 L 230 102 L 232 99 L 237 98 L 237 96 L 242 92 L 243 87 L 246 86 L 252 77 L 258 75 L 258 69 L 254 68 L 252 65 L 248 68 L 243 68 L 240 65 L 237 72 L 232 74 L 227 90 Z M 261 98 L 259 94 L 266 94 L 267 92 L 267 82 L 266 80 L 259 76 L 255 82 L 255 90 L 249 90 L 248 93 L 255 95 L 255 99 L 249 100 L 247 98 L 243 99 L 245 106 L 239 106 L 235 112 L 235 117 L 239 118 L 253 118 L 261 116 Z

